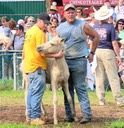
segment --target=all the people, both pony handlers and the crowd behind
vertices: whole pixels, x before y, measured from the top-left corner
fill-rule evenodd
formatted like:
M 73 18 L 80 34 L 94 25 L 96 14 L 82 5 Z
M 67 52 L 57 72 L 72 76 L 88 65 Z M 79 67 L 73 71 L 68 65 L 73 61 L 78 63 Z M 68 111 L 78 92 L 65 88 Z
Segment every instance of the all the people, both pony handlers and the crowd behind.
M 47 57 L 65 56 L 70 72 L 69 91 L 74 109 L 74 90 L 78 96 L 82 112 L 81 124 L 92 119 L 87 86 L 94 90 L 93 86 L 96 85 L 99 105 L 103 106 L 106 104 L 105 80 L 108 79 L 117 105 L 124 104 L 118 75 L 119 66 L 124 66 L 120 55 L 120 50 L 124 50 L 124 46 L 117 40 L 119 35 L 124 33 L 124 0 L 118 0 L 115 9 L 111 7 L 109 0 L 105 0 L 104 5 L 98 10 L 94 8 L 94 12 L 88 17 L 83 17 L 82 7 L 75 8 L 74 5 L 67 4 L 64 7 L 64 17 L 61 18 L 56 6 L 52 5 L 48 14 L 42 12 L 37 19 L 30 16 L 19 19 L 16 23 L 4 16 L 1 18 L 1 24 L 0 33 L 11 39 L 4 47 L 5 43 L 0 41 L 5 52 L 10 49 L 23 50 L 25 73 L 29 79 L 27 121 L 31 124 L 45 124 L 45 121 L 40 119 L 40 102 L 46 84 Z M 55 36 L 65 38 L 65 53 L 61 50 L 57 54 L 48 55 L 36 51 L 38 45 L 52 40 Z M 63 94 L 66 121 L 73 122 L 74 118 L 64 90 Z

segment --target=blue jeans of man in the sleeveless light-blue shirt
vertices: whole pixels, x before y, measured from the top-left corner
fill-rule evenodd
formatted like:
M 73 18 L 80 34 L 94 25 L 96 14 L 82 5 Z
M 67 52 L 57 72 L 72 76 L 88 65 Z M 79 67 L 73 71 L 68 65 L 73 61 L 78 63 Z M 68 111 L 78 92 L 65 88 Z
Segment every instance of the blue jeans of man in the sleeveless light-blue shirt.
M 91 118 L 92 113 L 91 113 L 90 102 L 85 84 L 85 77 L 87 73 L 87 59 L 86 58 L 66 59 L 66 62 L 68 64 L 69 72 L 70 72 L 70 77 L 68 82 L 69 82 L 69 91 L 72 97 L 73 105 L 74 105 L 74 89 L 75 89 L 81 106 L 83 117 Z M 64 104 L 65 104 L 66 116 L 71 117 L 72 116 L 71 109 L 65 93 L 64 93 Z

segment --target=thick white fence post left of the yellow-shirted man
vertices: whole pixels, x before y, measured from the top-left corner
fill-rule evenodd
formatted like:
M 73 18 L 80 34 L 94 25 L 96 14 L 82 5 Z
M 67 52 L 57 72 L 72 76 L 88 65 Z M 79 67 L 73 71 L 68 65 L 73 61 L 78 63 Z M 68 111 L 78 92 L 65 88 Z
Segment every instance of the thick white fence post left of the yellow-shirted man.
M 14 69 L 14 90 L 17 90 L 16 53 L 13 53 L 13 69 Z

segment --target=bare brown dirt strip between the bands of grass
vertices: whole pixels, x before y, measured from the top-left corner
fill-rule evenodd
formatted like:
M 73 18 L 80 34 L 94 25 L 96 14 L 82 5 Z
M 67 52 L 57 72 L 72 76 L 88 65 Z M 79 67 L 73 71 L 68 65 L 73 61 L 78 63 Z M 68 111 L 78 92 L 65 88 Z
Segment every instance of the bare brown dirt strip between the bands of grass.
M 50 119 L 47 122 L 46 127 L 53 127 L 53 107 L 45 106 Z M 105 106 L 98 106 L 96 104 L 91 106 L 93 119 L 91 123 L 88 123 L 84 126 L 105 126 L 105 123 L 111 123 L 114 120 L 124 119 L 124 106 L 117 106 L 116 104 L 108 103 Z M 80 112 L 79 105 L 76 105 L 76 115 L 80 120 L 82 118 L 82 114 Z M 58 119 L 60 122 L 65 120 L 65 111 L 64 107 L 58 107 Z M 25 106 L 0 106 L 0 123 L 24 123 L 25 122 Z M 79 122 L 72 123 L 76 128 L 82 128 L 82 125 Z M 86 127 L 87 128 L 87 127 Z

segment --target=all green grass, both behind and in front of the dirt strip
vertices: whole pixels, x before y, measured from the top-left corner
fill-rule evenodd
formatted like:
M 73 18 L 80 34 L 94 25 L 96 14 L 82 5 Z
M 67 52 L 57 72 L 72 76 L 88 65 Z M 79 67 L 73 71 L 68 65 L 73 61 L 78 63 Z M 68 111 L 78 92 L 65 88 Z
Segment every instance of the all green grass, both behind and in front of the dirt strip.
M 96 109 L 99 109 L 100 112 L 100 107 L 97 106 L 98 104 L 98 99 L 96 97 L 96 93 L 95 92 L 88 92 L 89 95 L 89 99 L 91 102 L 91 107 L 94 107 Z M 124 95 L 124 90 L 122 91 L 122 95 Z M 64 103 L 63 103 L 63 93 L 61 90 L 57 91 L 57 96 L 58 96 L 58 105 L 59 106 L 63 106 L 64 107 Z M 112 104 L 115 104 L 115 100 L 112 96 L 112 92 L 106 92 L 106 100 L 108 103 L 110 103 L 110 106 Z M 77 99 L 77 96 L 75 95 L 75 102 L 76 105 L 79 106 L 79 102 Z M 43 96 L 43 103 L 47 106 L 53 106 L 53 92 L 49 91 L 48 89 L 45 91 L 44 96 Z M 22 90 L 18 90 L 18 91 L 14 91 L 14 90 L 0 90 L 0 105 L 1 106 L 25 106 L 25 100 L 24 100 L 24 91 Z M 105 108 L 105 109 L 111 109 L 111 107 L 108 106 L 109 108 Z M 104 109 L 102 107 L 102 109 Z M 102 112 L 101 109 L 101 112 Z M 118 111 L 122 108 L 117 108 Z M 114 107 L 111 109 L 112 111 L 114 110 Z M 97 120 L 97 119 L 96 119 Z M 112 122 L 111 122 L 112 121 Z M 101 118 L 100 122 L 104 122 L 105 126 L 101 127 L 100 124 L 90 124 L 90 125 L 85 125 L 83 126 L 83 128 L 124 128 L 124 121 L 123 120 L 119 120 L 119 119 L 115 119 L 115 120 L 111 120 L 108 119 L 107 117 L 105 118 Z M 66 122 L 59 122 L 58 125 L 46 125 L 40 128 L 82 128 L 82 127 L 78 127 L 79 123 L 75 125 L 73 125 L 72 123 L 66 123 Z M 102 124 L 103 125 L 103 124 Z M 0 124 L 0 128 L 39 128 L 39 127 L 34 127 L 34 126 L 28 126 L 26 124 L 8 124 L 8 123 L 3 123 Z

